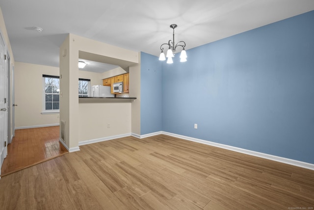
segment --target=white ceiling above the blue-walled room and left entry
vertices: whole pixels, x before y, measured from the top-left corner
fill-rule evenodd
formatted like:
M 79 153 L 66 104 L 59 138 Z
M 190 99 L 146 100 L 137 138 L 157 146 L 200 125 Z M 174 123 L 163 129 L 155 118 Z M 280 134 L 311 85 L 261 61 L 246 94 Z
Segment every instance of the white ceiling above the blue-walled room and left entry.
M 14 59 L 58 67 L 68 33 L 158 56 L 171 24 L 188 50 L 312 11 L 314 0 L 0 0 L 0 7 Z

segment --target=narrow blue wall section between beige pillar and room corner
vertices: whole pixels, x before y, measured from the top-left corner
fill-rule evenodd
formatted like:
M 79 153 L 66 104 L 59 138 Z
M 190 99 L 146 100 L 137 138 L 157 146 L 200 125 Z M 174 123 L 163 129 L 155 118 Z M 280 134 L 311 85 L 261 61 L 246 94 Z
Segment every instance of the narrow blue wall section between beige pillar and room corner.
M 162 130 L 162 63 L 141 52 L 141 135 Z

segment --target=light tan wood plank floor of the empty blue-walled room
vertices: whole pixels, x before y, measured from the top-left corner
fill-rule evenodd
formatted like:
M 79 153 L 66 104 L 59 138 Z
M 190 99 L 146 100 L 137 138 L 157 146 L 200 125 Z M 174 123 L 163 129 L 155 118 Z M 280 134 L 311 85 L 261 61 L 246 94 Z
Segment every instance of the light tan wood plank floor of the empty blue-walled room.
M 166 135 L 80 146 L 0 180 L 0 207 L 314 208 L 314 171 Z

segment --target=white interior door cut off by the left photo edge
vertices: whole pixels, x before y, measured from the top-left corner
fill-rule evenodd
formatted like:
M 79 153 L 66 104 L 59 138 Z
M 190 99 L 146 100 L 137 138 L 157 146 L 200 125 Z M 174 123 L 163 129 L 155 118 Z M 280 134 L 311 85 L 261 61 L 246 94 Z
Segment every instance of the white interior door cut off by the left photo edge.
M 8 139 L 8 72 L 5 65 L 5 45 L 0 38 L 0 158 L 1 166 L 7 155 L 7 139 Z M 1 172 L 0 172 L 1 173 Z

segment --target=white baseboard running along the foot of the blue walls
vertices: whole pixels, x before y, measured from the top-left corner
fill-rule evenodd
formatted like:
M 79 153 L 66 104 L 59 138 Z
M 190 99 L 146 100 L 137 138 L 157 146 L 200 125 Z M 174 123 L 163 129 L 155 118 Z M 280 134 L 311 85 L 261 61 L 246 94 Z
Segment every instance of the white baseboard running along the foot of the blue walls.
M 293 159 L 289 159 L 289 158 L 285 158 L 285 157 L 279 157 L 279 156 L 266 154 L 266 153 L 262 153 L 262 152 L 258 152 L 258 151 L 245 150 L 245 149 L 241 149 L 241 148 L 236 148 L 236 147 L 232 147 L 232 146 L 228 146 L 228 145 L 223 145 L 223 144 L 219 144 L 219 143 L 215 143 L 215 142 L 210 142 L 210 141 L 206 141 L 206 140 L 202 140 L 202 139 L 196 139 L 196 138 L 183 136 L 183 135 L 179 135 L 179 134 L 174 134 L 174 133 L 169 133 L 169 132 L 164 132 L 164 131 L 140 135 L 140 138 L 146 138 L 146 137 L 155 136 L 158 134 L 165 134 L 168 136 L 173 136 L 176 138 L 180 138 L 180 139 L 184 139 L 184 140 L 188 140 L 188 141 L 192 141 L 192 142 L 198 142 L 198 143 L 213 146 L 213 147 L 218 147 L 218 148 L 222 148 L 222 149 L 226 149 L 226 150 L 232 150 L 232 151 L 240 152 L 243 154 L 249 154 L 252 156 L 262 157 L 262 158 L 265 158 L 268 160 L 273 160 L 273 161 L 286 163 L 286 164 L 301 167 L 301 168 L 314 170 L 314 164 L 312 164 L 312 163 L 302 162 L 299 160 L 293 160 Z

